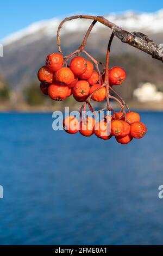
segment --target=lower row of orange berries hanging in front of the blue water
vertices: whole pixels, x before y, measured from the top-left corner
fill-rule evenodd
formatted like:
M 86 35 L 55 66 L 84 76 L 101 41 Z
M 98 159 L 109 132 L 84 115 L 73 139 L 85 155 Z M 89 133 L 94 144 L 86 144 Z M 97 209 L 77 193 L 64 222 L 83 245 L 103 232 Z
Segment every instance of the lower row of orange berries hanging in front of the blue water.
M 110 126 L 107 126 L 108 124 Z M 107 131 L 108 127 L 111 128 L 110 132 Z M 64 130 L 70 134 L 79 131 L 87 137 L 95 133 L 98 138 L 104 140 L 115 136 L 116 141 L 121 144 L 128 144 L 133 138 L 140 139 L 147 132 L 146 125 L 140 122 L 140 115 L 136 112 L 128 112 L 126 121 L 122 112 L 114 112 L 109 119 L 105 118 L 99 122 L 92 117 L 86 117 L 79 123 L 76 117 L 70 115 L 64 119 Z

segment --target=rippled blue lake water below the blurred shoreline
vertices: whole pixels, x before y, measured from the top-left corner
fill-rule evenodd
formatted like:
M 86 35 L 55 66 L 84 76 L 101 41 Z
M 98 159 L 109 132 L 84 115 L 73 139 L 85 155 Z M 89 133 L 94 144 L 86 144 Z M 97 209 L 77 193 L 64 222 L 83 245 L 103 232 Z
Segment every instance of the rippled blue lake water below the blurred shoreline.
M 141 117 L 146 137 L 121 145 L 0 114 L 0 244 L 163 244 L 163 113 Z

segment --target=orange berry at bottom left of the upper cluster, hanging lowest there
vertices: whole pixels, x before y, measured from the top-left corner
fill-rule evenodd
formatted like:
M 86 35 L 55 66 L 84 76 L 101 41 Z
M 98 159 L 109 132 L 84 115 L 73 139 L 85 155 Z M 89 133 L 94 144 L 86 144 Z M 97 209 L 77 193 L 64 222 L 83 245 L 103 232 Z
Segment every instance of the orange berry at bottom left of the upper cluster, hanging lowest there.
M 52 83 L 48 88 L 48 95 L 52 100 L 64 100 L 68 95 L 68 86 L 61 86 L 60 83 Z

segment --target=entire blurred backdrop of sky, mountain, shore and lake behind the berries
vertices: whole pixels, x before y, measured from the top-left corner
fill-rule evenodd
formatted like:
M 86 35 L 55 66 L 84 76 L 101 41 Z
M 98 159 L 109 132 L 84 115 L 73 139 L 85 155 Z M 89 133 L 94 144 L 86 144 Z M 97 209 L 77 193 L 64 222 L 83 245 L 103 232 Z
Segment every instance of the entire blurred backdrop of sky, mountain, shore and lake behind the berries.
M 162 63 L 114 39 L 110 66 L 127 72 L 116 89 L 148 128 L 145 138 L 125 146 L 53 131 L 51 112 L 80 104 L 72 96 L 48 100 L 37 81 L 47 54 L 57 51 L 65 17 L 103 15 L 162 44 L 162 2 L 5 1 L 1 9 L 0 244 L 162 244 Z M 65 55 L 78 48 L 90 23 L 62 27 Z M 96 25 L 87 41 L 86 50 L 102 62 L 109 35 Z

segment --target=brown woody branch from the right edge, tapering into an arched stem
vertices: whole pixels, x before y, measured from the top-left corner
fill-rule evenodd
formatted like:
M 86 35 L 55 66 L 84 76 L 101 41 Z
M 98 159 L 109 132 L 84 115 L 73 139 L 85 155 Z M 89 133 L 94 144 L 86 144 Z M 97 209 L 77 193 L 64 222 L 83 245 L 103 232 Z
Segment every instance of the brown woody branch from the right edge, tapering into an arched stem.
M 67 17 L 65 20 L 63 20 L 57 31 L 57 44 L 58 44 L 58 50 L 59 52 L 62 53 L 61 51 L 61 46 L 60 46 L 60 29 L 62 25 L 66 21 L 71 21 L 74 19 L 89 19 L 89 20 L 95 20 L 103 25 L 109 27 L 112 29 L 112 32 L 114 33 L 115 36 L 117 36 L 118 39 L 120 39 L 122 42 L 129 44 L 143 52 L 146 52 L 147 54 L 151 55 L 152 58 L 161 60 L 163 62 L 163 56 L 161 54 L 161 48 L 155 44 L 154 41 L 149 40 L 148 36 L 143 35 L 140 32 L 133 32 L 130 33 L 121 27 L 118 27 L 114 23 L 110 22 L 109 20 L 106 20 L 103 16 L 90 16 L 90 15 L 76 15 L 76 16 L 71 16 Z

